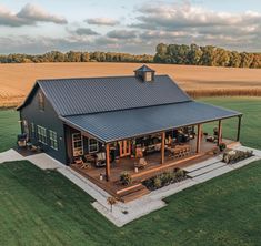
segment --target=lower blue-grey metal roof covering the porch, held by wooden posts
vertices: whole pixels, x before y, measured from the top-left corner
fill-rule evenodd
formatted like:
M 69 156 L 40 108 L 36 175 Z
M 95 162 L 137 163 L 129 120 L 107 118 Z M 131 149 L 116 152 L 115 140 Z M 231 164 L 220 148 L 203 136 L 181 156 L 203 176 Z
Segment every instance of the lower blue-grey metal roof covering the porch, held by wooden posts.
M 61 117 L 69 125 L 110 143 L 187 125 L 239 116 L 232 110 L 200 103 L 183 102 L 167 105 L 112 111 Z

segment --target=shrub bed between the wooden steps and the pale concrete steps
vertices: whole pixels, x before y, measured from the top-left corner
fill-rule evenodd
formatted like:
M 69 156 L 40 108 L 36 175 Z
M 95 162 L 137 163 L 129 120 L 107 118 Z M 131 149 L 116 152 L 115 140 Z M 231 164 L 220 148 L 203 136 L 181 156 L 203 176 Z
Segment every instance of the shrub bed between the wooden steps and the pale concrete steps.
M 173 171 L 158 174 L 142 182 L 142 184 L 150 191 L 162 188 L 167 185 L 178 183 L 187 180 L 187 173 L 181 168 L 174 168 Z

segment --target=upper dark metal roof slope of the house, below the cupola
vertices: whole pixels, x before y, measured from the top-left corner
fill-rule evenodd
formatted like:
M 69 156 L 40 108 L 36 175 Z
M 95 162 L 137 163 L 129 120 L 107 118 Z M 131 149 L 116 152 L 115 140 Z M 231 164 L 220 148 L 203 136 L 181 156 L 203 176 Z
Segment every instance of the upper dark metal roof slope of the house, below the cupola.
M 191 101 L 168 75 L 39 80 L 59 115 L 90 114 Z

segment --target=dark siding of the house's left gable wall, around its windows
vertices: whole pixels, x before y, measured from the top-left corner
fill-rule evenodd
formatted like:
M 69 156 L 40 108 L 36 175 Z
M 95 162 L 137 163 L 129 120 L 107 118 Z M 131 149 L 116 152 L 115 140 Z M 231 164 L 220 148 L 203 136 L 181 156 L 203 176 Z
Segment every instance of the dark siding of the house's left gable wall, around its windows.
M 31 135 L 31 123 L 34 124 L 34 137 L 30 137 L 30 141 L 33 144 L 39 144 L 44 153 L 49 154 L 53 158 L 60 161 L 61 163 L 67 163 L 67 151 L 64 144 L 64 129 L 62 121 L 58 117 L 56 111 L 53 110 L 50 102 L 46 99 L 44 101 L 44 111 L 40 111 L 38 106 L 38 92 L 40 89 L 36 90 L 33 93 L 30 103 L 20 110 L 21 120 L 27 120 L 30 135 Z M 43 126 L 47 129 L 47 145 L 38 143 L 37 136 L 37 125 Z M 58 136 L 58 151 L 50 147 L 49 130 L 57 132 Z

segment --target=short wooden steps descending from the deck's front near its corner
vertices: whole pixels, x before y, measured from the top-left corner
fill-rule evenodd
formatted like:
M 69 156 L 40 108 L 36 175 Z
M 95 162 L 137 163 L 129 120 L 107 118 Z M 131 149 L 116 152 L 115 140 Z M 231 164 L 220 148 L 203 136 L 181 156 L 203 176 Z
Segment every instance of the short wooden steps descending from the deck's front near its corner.
M 139 185 L 135 185 L 132 189 L 128 189 L 128 191 L 120 193 L 119 198 L 123 203 L 129 203 L 149 193 L 150 191 L 144 185 L 139 184 Z

